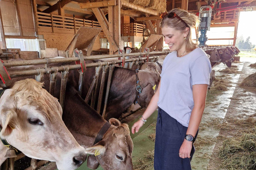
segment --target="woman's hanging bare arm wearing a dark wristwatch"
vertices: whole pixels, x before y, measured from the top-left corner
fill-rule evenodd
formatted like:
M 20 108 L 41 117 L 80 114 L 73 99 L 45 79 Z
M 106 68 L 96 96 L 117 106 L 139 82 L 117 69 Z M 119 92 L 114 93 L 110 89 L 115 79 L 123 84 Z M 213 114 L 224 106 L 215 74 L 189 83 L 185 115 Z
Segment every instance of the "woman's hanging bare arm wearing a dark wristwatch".
M 207 84 L 196 84 L 193 86 L 194 108 L 191 112 L 188 130 L 186 133 L 193 135 L 193 137 L 195 137 L 196 135 L 196 132 L 199 128 L 199 124 L 203 116 L 207 88 Z M 193 142 L 189 142 L 186 139 L 184 139 L 179 152 L 181 158 L 190 158 L 192 144 Z

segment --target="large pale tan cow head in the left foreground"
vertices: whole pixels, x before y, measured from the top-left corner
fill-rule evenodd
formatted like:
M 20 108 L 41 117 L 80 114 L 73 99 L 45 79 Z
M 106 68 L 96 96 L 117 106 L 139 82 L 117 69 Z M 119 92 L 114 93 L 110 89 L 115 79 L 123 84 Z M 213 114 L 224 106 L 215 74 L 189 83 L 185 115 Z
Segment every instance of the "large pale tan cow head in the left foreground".
M 58 100 L 42 85 L 26 79 L 4 92 L 0 137 L 28 157 L 56 162 L 58 169 L 76 169 L 86 159 L 85 149 L 63 123 Z

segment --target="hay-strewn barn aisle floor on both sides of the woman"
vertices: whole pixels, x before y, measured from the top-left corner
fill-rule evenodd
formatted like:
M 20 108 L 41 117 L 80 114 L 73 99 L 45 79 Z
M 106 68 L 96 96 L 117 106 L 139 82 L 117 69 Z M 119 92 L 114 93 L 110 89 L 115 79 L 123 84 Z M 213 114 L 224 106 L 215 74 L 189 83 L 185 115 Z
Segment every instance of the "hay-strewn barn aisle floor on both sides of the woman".
M 239 86 L 246 77 L 256 72 L 256 67 L 250 66 L 256 58 L 241 57 L 240 61 L 232 63 L 230 69 L 224 64 L 213 68 L 216 80 L 207 92 L 192 169 L 256 169 L 256 88 Z M 154 128 L 155 123 L 133 139 L 134 169 L 154 169 Z M 249 135 L 249 141 L 245 141 L 245 135 Z M 245 141 L 245 146 L 252 152 L 245 152 L 239 140 Z M 227 145 L 230 141 L 231 146 Z M 234 150 L 242 156 L 235 157 Z

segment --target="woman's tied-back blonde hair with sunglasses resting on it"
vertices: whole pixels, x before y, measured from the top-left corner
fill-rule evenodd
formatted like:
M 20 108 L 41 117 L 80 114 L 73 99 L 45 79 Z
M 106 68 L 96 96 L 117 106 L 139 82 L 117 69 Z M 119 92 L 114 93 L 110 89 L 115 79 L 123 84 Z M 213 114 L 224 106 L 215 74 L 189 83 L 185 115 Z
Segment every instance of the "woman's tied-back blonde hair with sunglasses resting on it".
M 194 14 L 190 14 L 187 11 L 181 10 L 178 8 L 175 8 L 169 11 L 168 14 L 171 12 L 174 12 L 175 14 L 177 14 L 189 26 L 189 32 L 186 39 L 186 51 L 191 52 L 197 47 L 197 43 L 193 43 L 192 41 L 191 29 L 195 28 L 199 24 L 198 16 Z M 187 25 L 176 17 L 168 18 L 167 16 L 165 16 L 160 23 L 160 28 L 171 27 L 171 28 L 174 28 L 175 30 L 184 31 L 187 28 Z

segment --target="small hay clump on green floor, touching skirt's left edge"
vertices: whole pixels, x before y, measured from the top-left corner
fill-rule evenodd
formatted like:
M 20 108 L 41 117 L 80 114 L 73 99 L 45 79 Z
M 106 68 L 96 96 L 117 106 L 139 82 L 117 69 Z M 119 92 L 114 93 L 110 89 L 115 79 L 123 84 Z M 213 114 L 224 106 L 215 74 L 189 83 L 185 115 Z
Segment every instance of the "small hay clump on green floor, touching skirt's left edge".
M 154 170 L 154 150 L 149 150 L 145 157 L 138 158 L 137 164 L 134 164 L 134 170 Z

